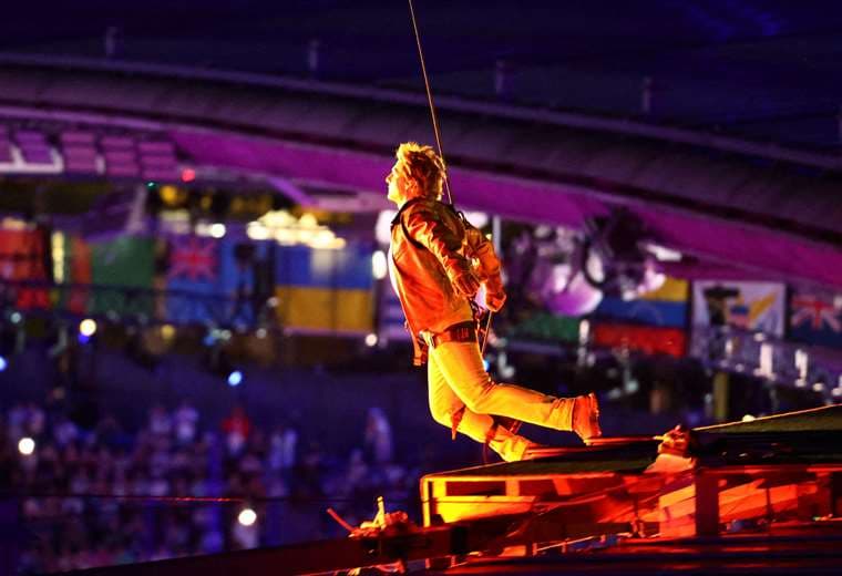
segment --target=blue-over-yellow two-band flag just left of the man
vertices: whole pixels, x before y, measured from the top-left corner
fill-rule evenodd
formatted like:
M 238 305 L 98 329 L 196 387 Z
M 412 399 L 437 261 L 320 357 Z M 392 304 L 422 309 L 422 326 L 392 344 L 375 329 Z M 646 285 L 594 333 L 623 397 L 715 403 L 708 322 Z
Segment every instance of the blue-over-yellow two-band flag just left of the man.
M 371 253 L 362 244 L 341 249 L 279 246 L 275 292 L 280 323 L 302 333 L 373 331 Z

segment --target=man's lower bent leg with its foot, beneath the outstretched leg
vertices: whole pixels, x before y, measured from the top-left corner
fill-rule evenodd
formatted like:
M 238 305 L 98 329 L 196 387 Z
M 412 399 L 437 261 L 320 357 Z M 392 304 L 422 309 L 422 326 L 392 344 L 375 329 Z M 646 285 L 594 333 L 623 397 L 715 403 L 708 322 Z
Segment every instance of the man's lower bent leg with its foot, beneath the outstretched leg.
M 497 426 L 489 414 L 478 414 L 465 407 L 448 384 L 444 374 L 432 357 L 427 366 L 430 412 L 433 420 L 451 429 L 453 419 L 459 419 L 456 430 L 489 446 L 506 462 L 523 460 L 526 449 L 533 445 L 527 439 Z M 491 435 L 491 438 L 489 438 Z

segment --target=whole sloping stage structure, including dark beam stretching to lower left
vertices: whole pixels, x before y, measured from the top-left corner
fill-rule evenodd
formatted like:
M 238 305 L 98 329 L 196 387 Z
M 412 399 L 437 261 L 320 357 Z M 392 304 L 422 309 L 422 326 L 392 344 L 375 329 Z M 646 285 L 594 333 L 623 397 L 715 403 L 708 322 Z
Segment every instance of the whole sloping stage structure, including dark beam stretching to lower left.
M 350 537 L 89 575 L 832 574 L 842 560 L 842 405 L 663 436 L 546 448 L 429 474 L 423 525 L 381 510 Z M 425 560 L 421 564 L 419 560 Z

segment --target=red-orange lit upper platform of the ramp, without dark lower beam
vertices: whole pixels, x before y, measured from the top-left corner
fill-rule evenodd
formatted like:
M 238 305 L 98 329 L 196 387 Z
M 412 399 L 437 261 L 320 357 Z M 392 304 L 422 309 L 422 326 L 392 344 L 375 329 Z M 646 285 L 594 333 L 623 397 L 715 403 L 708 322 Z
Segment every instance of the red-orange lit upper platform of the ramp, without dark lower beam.
M 424 525 L 505 517 L 501 551 L 530 555 L 606 535 L 664 542 L 826 526 L 842 507 L 842 407 L 666 438 L 430 474 Z

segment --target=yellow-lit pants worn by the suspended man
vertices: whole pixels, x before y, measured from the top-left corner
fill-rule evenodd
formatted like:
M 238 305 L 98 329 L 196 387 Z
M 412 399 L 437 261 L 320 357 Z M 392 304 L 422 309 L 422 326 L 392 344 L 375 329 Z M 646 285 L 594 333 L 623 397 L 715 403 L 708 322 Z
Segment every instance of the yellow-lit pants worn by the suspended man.
M 491 380 L 476 342 L 445 342 L 430 347 L 428 361 L 430 412 L 451 428 L 464 407 L 459 432 L 484 443 L 494 425 L 491 414 L 514 418 L 555 430 L 572 430 L 573 398 L 556 398 L 514 384 Z M 531 444 L 502 426 L 489 445 L 507 462 L 522 460 Z

